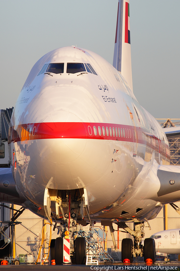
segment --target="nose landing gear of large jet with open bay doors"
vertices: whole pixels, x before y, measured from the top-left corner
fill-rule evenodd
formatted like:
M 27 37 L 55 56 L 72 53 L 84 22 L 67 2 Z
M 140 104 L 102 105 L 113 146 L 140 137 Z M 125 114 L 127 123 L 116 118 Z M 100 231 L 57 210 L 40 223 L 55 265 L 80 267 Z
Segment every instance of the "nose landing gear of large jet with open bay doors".
M 86 239 L 77 237 L 79 231 L 86 226 L 83 220 L 88 214 L 88 196 L 86 188 L 74 190 L 55 190 L 46 188 L 44 193 L 44 209 L 46 215 L 51 219 L 51 202 L 55 202 L 55 213 L 57 216 L 54 226 L 58 228 L 58 238 L 50 244 L 51 260 L 56 265 L 69 263 L 86 263 Z M 58 225 L 57 225 L 58 224 Z

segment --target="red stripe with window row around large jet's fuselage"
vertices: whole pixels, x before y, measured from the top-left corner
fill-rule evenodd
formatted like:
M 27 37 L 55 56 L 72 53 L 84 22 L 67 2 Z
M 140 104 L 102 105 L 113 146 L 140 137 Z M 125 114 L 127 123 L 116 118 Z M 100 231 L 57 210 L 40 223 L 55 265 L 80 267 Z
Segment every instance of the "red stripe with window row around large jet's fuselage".
M 163 156 L 168 156 L 168 147 L 146 129 L 131 125 L 112 123 L 29 123 L 10 127 L 8 142 L 25 142 L 36 139 L 71 138 L 105 139 L 134 142 L 146 145 Z

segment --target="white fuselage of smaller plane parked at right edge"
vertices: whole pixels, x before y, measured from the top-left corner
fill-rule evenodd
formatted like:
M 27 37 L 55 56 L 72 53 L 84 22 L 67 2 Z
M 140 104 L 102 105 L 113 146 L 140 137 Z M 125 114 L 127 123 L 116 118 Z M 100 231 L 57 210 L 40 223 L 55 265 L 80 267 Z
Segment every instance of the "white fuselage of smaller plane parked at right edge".
M 180 229 L 170 229 L 157 232 L 154 237 L 156 252 L 166 254 L 180 254 Z

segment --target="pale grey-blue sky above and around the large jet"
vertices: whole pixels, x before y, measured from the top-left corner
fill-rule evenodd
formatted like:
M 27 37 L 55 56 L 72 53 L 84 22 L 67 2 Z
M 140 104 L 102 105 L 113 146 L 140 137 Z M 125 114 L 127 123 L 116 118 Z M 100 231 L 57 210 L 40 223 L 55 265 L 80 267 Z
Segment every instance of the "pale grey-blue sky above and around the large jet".
M 113 64 L 118 0 L 0 0 L 0 109 L 12 107 L 36 61 L 77 45 Z M 180 118 L 179 0 L 130 0 L 133 90 L 156 118 Z

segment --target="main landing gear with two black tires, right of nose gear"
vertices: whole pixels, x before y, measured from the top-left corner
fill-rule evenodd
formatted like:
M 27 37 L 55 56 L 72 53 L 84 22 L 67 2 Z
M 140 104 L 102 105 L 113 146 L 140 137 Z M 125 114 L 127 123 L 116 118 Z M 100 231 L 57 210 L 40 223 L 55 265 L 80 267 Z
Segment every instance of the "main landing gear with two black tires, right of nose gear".
M 144 222 L 135 222 L 134 230 L 130 229 L 125 222 L 118 222 L 118 226 L 125 229 L 134 237 L 134 244 L 132 239 L 122 239 L 122 262 L 125 259 L 129 259 L 130 263 L 133 262 L 133 258 L 140 256 L 144 257 L 144 261 L 151 259 L 154 263 L 156 261 L 155 241 L 153 238 L 146 238 L 144 240 L 144 246 L 141 242 L 144 237 Z

